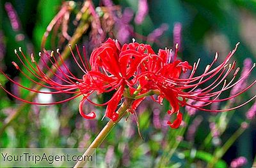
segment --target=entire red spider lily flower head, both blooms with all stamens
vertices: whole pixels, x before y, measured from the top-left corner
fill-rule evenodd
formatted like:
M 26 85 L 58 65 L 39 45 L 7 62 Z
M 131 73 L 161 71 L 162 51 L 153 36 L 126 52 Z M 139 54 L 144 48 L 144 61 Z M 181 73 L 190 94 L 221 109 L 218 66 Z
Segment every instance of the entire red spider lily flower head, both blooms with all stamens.
M 26 59 L 24 53 L 22 53 L 22 50 L 20 49 L 23 59 L 21 59 L 17 51 L 15 51 L 15 53 L 20 59 L 22 65 L 29 71 L 29 73 L 44 81 L 46 84 L 44 85 L 39 83 L 30 78 L 24 72 L 20 72 L 37 85 L 50 88 L 54 91 L 42 92 L 24 87 L 20 85 L 20 83 L 13 81 L 10 77 L 4 74 L 3 71 L 1 71 L 6 78 L 16 85 L 19 85 L 19 87 L 26 88 L 31 92 L 43 94 L 65 93 L 74 94 L 74 96 L 63 101 L 42 104 L 40 102 L 29 102 L 24 99 L 20 99 L 19 97 L 8 92 L 8 90 L 6 90 L 3 86 L 1 87 L 8 92 L 8 94 L 19 99 L 20 101 L 41 105 L 66 102 L 83 95 L 83 99 L 79 104 L 79 112 L 84 118 L 92 119 L 96 116 L 93 111 L 87 114 L 83 111 L 84 101 L 89 101 L 97 106 L 108 105 L 106 108 L 106 116 L 113 121 L 118 119 L 116 108 L 118 107 L 122 97 L 134 99 L 131 109 L 129 110 L 131 113 L 134 113 L 137 106 L 141 103 L 141 101 L 143 101 L 143 99 L 145 99 L 145 96 L 143 95 L 150 95 L 152 99 L 159 102 L 159 104 L 162 104 L 163 99 L 165 98 L 168 102 L 170 102 L 170 106 L 172 107 L 172 109 L 168 110 L 168 114 L 177 115 L 177 118 L 173 122 L 168 122 L 167 124 L 172 128 L 177 128 L 182 122 L 182 113 L 179 111 L 180 106 L 190 106 L 192 108 L 204 111 L 220 112 L 239 108 L 248 102 L 244 102 L 239 106 L 229 109 L 211 110 L 205 108 L 212 102 L 227 101 L 228 99 L 232 99 L 237 95 L 242 94 L 248 90 L 248 88 L 252 87 L 252 85 L 256 82 L 253 81 L 251 85 L 248 85 L 248 87 L 240 90 L 240 92 L 237 92 L 237 94 L 220 99 L 220 95 L 223 91 L 234 87 L 244 78 L 242 76 L 239 78 L 239 80 L 234 81 L 239 71 L 239 67 L 235 69 L 235 62 L 228 64 L 228 61 L 236 51 L 236 48 L 234 48 L 232 52 L 228 53 L 226 59 L 220 65 L 213 68 L 212 66 L 218 59 L 218 54 L 216 54 L 212 63 L 205 67 L 204 73 L 199 76 L 195 76 L 195 71 L 198 68 L 199 60 L 198 62 L 195 62 L 193 66 L 190 66 L 186 61 L 182 62 L 181 60 L 178 60 L 178 46 L 175 48 L 175 54 L 172 54 L 172 50 L 168 49 L 160 49 L 158 53 L 155 53 L 150 45 L 136 43 L 135 41 L 133 41 L 133 43 L 120 45 L 117 40 L 108 39 L 99 48 L 93 50 L 90 61 L 87 61 L 85 57 L 84 59 L 82 58 L 77 46 L 77 55 L 80 61 L 76 59 L 74 53 L 72 50 L 70 50 L 77 66 L 84 73 L 83 78 L 77 78 L 70 72 L 68 67 L 65 66 L 65 62 L 61 58 L 61 54 L 58 50 L 57 53 L 60 57 L 61 63 L 67 69 L 67 73 L 64 73 L 63 70 L 61 70 L 61 65 L 56 60 L 56 57 L 54 57 L 54 54 L 49 54 L 45 51 L 45 54 L 47 57 L 49 57 L 49 59 L 53 57 L 54 61 L 52 61 L 52 65 L 58 69 L 58 71 L 61 71 L 63 76 L 56 74 L 49 66 L 47 66 L 47 64 L 45 64 L 45 67 L 47 67 L 47 69 L 51 71 L 54 76 L 64 81 L 65 84 L 58 83 L 47 76 L 42 69 L 40 69 L 38 64 L 36 64 L 33 55 L 31 55 L 31 62 L 32 64 L 35 64 L 33 66 L 31 62 Z M 84 48 L 83 53 L 85 56 Z M 26 66 L 24 60 L 28 63 L 28 66 Z M 13 62 L 13 65 L 20 70 L 19 66 L 15 62 Z M 253 64 L 253 67 L 255 67 L 255 64 Z M 248 71 L 248 74 L 252 71 L 253 67 L 250 69 L 250 71 Z M 33 69 L 33 71 L 30 69 Z M 188 70 L 190 71 L 188 78 L 180 78 L 181 74 L 186 73 Z M 227 81 L 226 77 L 230 73 L 233 73 L 233 78 L 230 81 Z M 212 79 L 214 79 L 214 81 L 211 81 L 211 85 L 208 85 L 205 88 L 197 89 L 200 87 L 200 85 Z M 216 88 L 220 85 L 221 89 L 216 90 Z M 89 99 L 90 95 L 95 91 L 97 94 L 102 94 L 111 92 L 113 90 L 115 90 L 115 94 L 113 94 L 113 97 L 111 97 L 111 99 L 104 104 L 96 104 Z M 134 96 L 135 91 L 137 93 L 136 96 Z M 157 99 L 152 93 L 158 95 Z M 188 104 L 186 101 L 187 99 L 203 103 Z

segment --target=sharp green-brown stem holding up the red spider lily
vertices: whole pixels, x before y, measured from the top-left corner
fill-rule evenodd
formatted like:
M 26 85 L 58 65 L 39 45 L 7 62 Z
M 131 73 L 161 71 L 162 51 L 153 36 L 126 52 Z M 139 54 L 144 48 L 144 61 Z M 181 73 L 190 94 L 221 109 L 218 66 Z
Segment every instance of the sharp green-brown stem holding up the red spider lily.
M 113 127 L 118 123 L 123 116 L 125 115 L 125 112 L 127 112 L 127 109 L 131 108 L 132 105 L 132 99 L 125 99 L 124 103 L 121 105 L 121 107 L 116 111 L 116 113 L 119 114 L 118 120 L 113 122 L 112 120 L 109 120 L 109 122 L 105 125 L 105 127 L 100 131 L 98 136 L 94 139 L 92 144 L 88 147 L 88 149 L 84 152 L 83 157 L 92 155 L 93 149 L 96 149 L 100 146 L 100 144 L 104 141 L 104 139 L 108 136 L 109 132 L 113 129 Z M 76 167 L 84 167 L 84 164 L 86 162 L 84 160 L 77 162 L 77 164 L 74 166 Z

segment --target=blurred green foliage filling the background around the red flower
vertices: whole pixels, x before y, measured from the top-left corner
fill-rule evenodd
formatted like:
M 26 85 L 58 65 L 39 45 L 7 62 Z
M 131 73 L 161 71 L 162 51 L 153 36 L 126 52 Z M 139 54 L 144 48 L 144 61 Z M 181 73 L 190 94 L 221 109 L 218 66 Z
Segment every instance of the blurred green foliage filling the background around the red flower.
M 21 27 L 18 31 L 12 29 L 12 25 L 4 9 L 6 2 L 12 3 L 17 11 L 21 23 Z M 99 1 L 93 2 L 95 6 L 98 6 Z M 3 0 L 0 2 L 0 31 L 4 34 L 3 41 L 1 42 L 6 46 L 6 52 L 3 60 L 1 60 L 0 66 L 2 66 L 1 69 L 4 69 L 12 78 L 19 76 L 19 73 L 15 71 L 15 68 L 13 68 L 11 64 L 12 61 L 19 62 L 13 50 L 21 46 L 24 53 L 39 52 L 45 29 L 54 15 L 60 10 L 62 3 L 63 1 L 60 0 Z M 80 3 L 81 1 L 77 2 L 77 4 Z M 129 7 L 135 12 L 138 10 L 137 0 L 114 1 L 114 3 L 120 5 L 123 10 L 125 7 Z M 161 0 L 148 1 L 148 5 L 149 13 L 143 24 L 136 25 L 134 22 L 131 22 L 134 31 L 143 36 L 147 36 L 161 24 L 166 23 L 169 25 L 169 29 L 161 36 L 161 45 L 154 43 L 154 48 L 164 48 L 165 46 L 172 48 L 173 25 L 175 22 L 180 22 L 182 24 L 182 51 L 180 51 L 179 56 L 183 60 L 188 60 L 191 64 L 198 58 L 201 58 L 202 61 L 198 69 L 199 72 L 204 71 L 204 67 L 214 58 L 214 53 L 219 51 L 218 48 L 220 48 L 221 59 L 227 55 L 228 51 L 234 48 L 238 41 L 240 41 L 241 45 L 239 45 L 239 49 L 234 56 L 237 60 L 237 66 L 242 66 L 243 60 L 248 57 L 255 61 L 254 55 L 256 55 L 256 50 L 253 46 L 255 46 L 254 43 L 256 40 L 253 39 L 253 37 L 255 37 L 256 26 L 254 25 L 253 27 L 253 24 L 250 25 L 250 22 L 256 22 L 256 1 Z M 244 22 L 244 20 L 248 19 L 248 22 Z M 72 29 L 76 29 L 76 27 Z M 249 32 L 250 30 L 254 31 Z M 24 39 L 17 40 L 19 34 L 23 34 Z M 250 34 L 252 34 L 252 36 L 250 36 Z M 84 34 L 84 36 L 84 39 L 88 39 L 88 34 Z M 147 42 L 140 38 L 136 40 L 139 42 Z M 83 43 L 83 41 L 79 43 Z M 45 48 L 51 49 L 50 41 L 47 41 Z M 56 48 L 52 48 L 52 50 L 53 49 Z M 255 72 L 253 72 L 251 76 L 251 79 L 254 78 Z M 6 81 L 1 74 L 0 82 L 8 89 L 12 88 L 12 84 Z M 30 86 L 31 84 L 26 78 L 22 78 L 21 83 L 26 86 Z M 24 93 L 25 92 L 22 92 L 22 94 Z M 240 99 L 246 100 L 248 97 L 252 97 L 252 94 L 255 93 L 249 92 Z M 26 95 L 22 96 L 26 97 Z M 0 90 L 0 97 L 1 127 L 3 121 L 8 115 L 12 115 L 12 111 L 15 111 L 15 108 L 19 106 L 20 102 L 6 95 L 3 90 Z M 106 99 L 108 99 L 108 97 Z M 62 104 L 61 106 L 32 106 L 26 108 L 20 117 L 5 130 L 3 136 L 0 137 L 1 148 L 84 148 L 88 146 L 107 121 L 106 119 L 101 121 L 100 117 L 94 121 L 85 121 L 79 116 L 77 111 L 78 103 L 79 100 L 74 100 Z M 169 148 L 173 147 L 172 143 L 174 144 L 174 141 L 176 141 L 173 137 L 179 135 L 182 128 L 177 130 L 167 128 L 165 133 L 161 132 L 163 131 L 161 129 L 156 129 L 152 124 L 152 110 L 155 107 L 151 106 L 150 103 L 152 102 L 147 102 L 144 105 L 145 109 L 141 109 L 139 115 L 140 130 L 145 140 L 142 140 L 138 135 L 136 122 L 131 119 L 133 116 L 129 116 L 127 122 L 122 120 L 109 134 L 104 144 L 102 144 L 102 150 L 100 150 L 99 154 L 99 165 L 102 167 L 106 166 L 104 164 L 104 156 L 108 150 L 109 144 L 115 147 L 115 155 L 111 158 L 109 167 L 156 167 L 161 155 L 166 152 L 162 148 L 163 143 L 167 143 L 164 144 L 164 146 L 168 146 Z M 230 115 L 230 118 L 232 117 L 230 123 L 225 133 L 221 136 L 221 139 L 223 139 L 222 143 L 225 143 L 228 137 L 230 137 L 241 122 L 243 122 L 244 114 L 251 105 L 252 103 L 236 110 L 236 115 Z M 88 107 L 90 106 L 88 105 Z M 162 107 L 161 109 L 165 113 L 168 106 Z M 96 110 L 98 113 L 103 113 L 104 108 L 97 108 Z M 38 115 L 39 112 L 35 111 L 39 111 L 40 114 Z M 184 112 L 184 109 L 182 109 L 182 112 Z M 202 115 L 204 121 L 201 124 L 202 127 L 199 127 L 196 132 L 195 143 L 189 144 L 186 141 L 180 143 L 177 152 L 170 158 L 170 161 L 179 164 L 168 165 L 169 167 L 189 167 L 189 164 L 191 164 L 191 167 L 200 167 L 205 164 L 192 164 L 193 160 L 202 160 L 202 162 L 209 162 L 209 160 L 211 160 L 212 153 L 210 151 L 216 148 L 212 143 L 209 144 L 209 148 L 207 147 L 209 152 L 197 151 L 193 159 L 189 158 L 191 150 L 188 149 L 197 148 L 204 142 L 205 137 L 209 133 L 208 120 L 212 118 L 211 115 L 205 112 L 199 112 L 197 115 Z M 161 122 L 163 122 L 163 117 L 164 115 L 161 114 Z M 189 123 L 191 123 L 193 118 L 195 117 L 191 117 Z M 130 128 L 128 129 L 127 127 Z M 131 132 L 127 133 L 127 130 L 135 133 L 129 136 Z M 225 160 L 225 162 L 219 160 L 216 166 L 227 167 L 227 164 L 230 164 L 232 159 L 243 155 L 248 158 L 248 164 L 246 164 L 245 167 L 250 167 L 255 152 L 255 121 L 253 121 L 250 127 L 237 139 L 230 150 L 227 151 L 227 154 L 224 155 L 222 159 Z M 150 155 L 148 155 L 148 153 L 150 153 Z M 186 158 L 185 160 L 188 162 L 184 162 L 182 158 Z

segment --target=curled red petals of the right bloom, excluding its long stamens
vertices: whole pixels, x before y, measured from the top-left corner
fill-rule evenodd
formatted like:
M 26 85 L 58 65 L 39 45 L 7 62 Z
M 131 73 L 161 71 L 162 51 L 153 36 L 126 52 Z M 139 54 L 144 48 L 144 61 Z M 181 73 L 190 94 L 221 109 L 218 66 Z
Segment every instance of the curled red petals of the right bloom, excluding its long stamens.
M 188 69 L 192 69 L 188 62 L 181 62 L 180 60 L 175 60 L 177 57 L 177 50 L 175 53 L 174 61 L 171 62 L 170 50 L 159 50 L 158 54 L 154 53 L 151 48 L 147 48 L 150 53 L 147 57 L 144 57 L 140 64 L 141 75 L 139 77 L 141 88 L 144 92 L 148 90 L 159 90 L 158 101 L 160 104 L 163 98 L 166 98 L 172 110 L 168 110 L 168 114 L 172 115 L 177 113 L 177 119 L 171 123 L 172 128 L 179 127 L 182 121 L 182 113 L 179 112 L 179 99 L 178 91 L 180 88 L 175 88 L 175 83 L 168 83 L 166 80 L 179 79 L 180 74 L 186 72 Z

